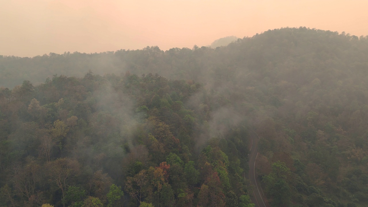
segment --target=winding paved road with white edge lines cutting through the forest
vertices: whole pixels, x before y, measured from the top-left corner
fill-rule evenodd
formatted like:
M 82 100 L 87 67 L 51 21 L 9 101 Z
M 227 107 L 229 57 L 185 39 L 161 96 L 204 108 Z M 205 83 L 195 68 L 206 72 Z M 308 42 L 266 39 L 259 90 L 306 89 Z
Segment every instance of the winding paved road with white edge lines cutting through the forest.
M 258 140 L 259 136 L 255 131 L 250 130 L 250 138 L 251 138 L 251 148 L 249 153 L 249 179 L 252 185 L 253 196 L 251 196 L 251 200 L 255 203 L 256 207 L 269 207 L 265 196 L 263 195 L 261 185 L 259 180 L 257 179 L 257 174 L 255 172 L 255 162 L 258 156 Z

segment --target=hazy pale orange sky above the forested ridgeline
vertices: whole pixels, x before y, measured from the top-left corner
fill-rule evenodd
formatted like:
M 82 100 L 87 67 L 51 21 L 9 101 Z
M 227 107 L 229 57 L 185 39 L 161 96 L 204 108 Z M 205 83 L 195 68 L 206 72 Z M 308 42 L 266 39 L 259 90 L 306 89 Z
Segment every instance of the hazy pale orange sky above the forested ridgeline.
M 0 55 L 192 48 L 310 27 L 368 35 L 367 0 L 0 0 Z

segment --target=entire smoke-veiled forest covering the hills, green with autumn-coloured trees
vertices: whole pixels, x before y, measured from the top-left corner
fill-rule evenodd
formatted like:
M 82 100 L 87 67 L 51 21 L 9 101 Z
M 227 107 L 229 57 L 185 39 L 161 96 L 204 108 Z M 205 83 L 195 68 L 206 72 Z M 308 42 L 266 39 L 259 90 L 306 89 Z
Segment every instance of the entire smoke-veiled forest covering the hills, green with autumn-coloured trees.
M 302 27 L 0 56 L 0 206 L 251 207 L 250 130 L 272 207 L 367 206 L 367 57 L 368 36 Z

